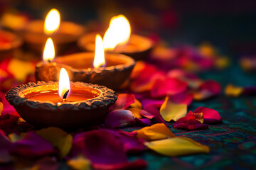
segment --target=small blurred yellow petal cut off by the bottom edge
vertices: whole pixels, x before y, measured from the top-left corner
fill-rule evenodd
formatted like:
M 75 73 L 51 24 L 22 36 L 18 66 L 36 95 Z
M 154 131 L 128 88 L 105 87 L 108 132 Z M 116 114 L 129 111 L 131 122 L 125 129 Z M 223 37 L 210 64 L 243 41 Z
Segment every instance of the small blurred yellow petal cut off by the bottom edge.
M 77 157 L 75 159 L 70 159 L 67 162 L 68 166 L 75 170 L 89 170 L 90 168 L 90 160 L 85 157 Z

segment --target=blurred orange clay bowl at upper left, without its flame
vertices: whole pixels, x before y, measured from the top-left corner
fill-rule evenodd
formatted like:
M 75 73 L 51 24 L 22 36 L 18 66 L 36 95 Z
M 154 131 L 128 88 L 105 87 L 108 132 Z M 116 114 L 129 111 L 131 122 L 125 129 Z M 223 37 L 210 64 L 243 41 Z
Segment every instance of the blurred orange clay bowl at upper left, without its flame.
M 43 33 L 43 25 L 44 21 L 32 21 L 28 23 L 28 26 L 24 28 L 21 34 L 26 42 L 26 47 L 40 52 L 40 54 L 42 54 L 43 47 L 46 45 L 48 38 L 48 35 Z M 57 52 L 63 52 L 70 47 L 70 45 L 76 45 L 76 42 L 84 32 L 85 28 L 82 26 L 68 21 L 62 21 L 60 22 L 58 32 L 50 37 L 53 38 L 55 50 Z

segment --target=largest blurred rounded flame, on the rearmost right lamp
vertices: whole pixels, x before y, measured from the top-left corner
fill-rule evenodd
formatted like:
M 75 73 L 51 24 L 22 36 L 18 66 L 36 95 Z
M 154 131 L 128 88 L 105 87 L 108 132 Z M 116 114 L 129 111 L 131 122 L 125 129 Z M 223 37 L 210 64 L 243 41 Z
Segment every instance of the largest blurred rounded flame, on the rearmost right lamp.
M 125 45 L 131 35 L 131 26 L 125 16 L 114 16 L 110 20 L 103 42 L 105 50 L 114 50 L 117 45 Z

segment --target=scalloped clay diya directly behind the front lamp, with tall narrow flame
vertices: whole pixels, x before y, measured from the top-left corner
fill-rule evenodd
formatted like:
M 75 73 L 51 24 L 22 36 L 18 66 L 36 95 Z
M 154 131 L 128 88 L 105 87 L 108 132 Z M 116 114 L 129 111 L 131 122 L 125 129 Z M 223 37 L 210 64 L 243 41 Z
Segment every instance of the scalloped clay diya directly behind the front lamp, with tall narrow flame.
M 54 62 L 54 55 L 48 52 L 48 57 L 46 57 L 45 52 L 43 61 L 36 64 L 36 80 L 56 81 L 58 72 L 64 67 L 72 81 L 100 84 L 110 89 L 124 89 L 128 85 L 129 75 L 135 64 L 134 60 L 117 53 L 105 54 L 102 38 L 98 35 L 96 39 L 95 52 L 80 52 L 56 57 Z

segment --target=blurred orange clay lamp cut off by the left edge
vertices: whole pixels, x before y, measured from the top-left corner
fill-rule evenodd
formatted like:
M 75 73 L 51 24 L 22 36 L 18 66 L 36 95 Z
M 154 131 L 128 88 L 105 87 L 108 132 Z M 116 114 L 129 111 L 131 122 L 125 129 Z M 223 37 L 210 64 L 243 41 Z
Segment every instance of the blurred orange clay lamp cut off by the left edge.
M 0 61 L 11 55 L 21 44 L 22 40 L 17 35 L 6 30 L 0 30 Z

